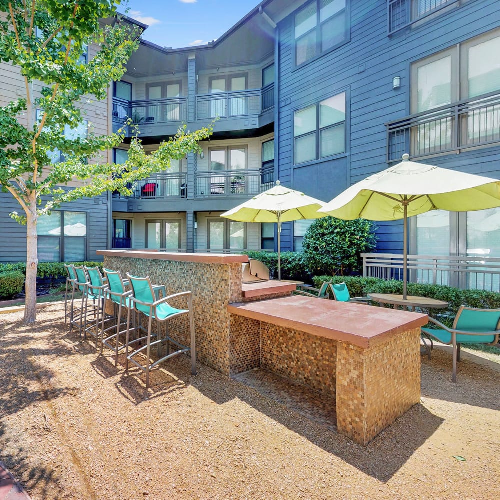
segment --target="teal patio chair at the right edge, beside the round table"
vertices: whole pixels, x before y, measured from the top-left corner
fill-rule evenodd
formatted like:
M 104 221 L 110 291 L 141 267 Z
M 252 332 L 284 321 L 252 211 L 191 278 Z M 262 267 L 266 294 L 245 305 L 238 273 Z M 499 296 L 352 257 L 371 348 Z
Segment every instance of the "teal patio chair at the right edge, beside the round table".
M 452 328 L 432 317 L 429 317 L 429 322 L 439 326 L 439 329 L 422 328 L 422 333 L 431 340 L 433 338 L 453 346 L 453 382 L 456 382 L 456 363 L 460 360 L 460 345 L 462 343 L 494 345 L 500 335 L 500 309 L 474 309 L 461 305 Z

